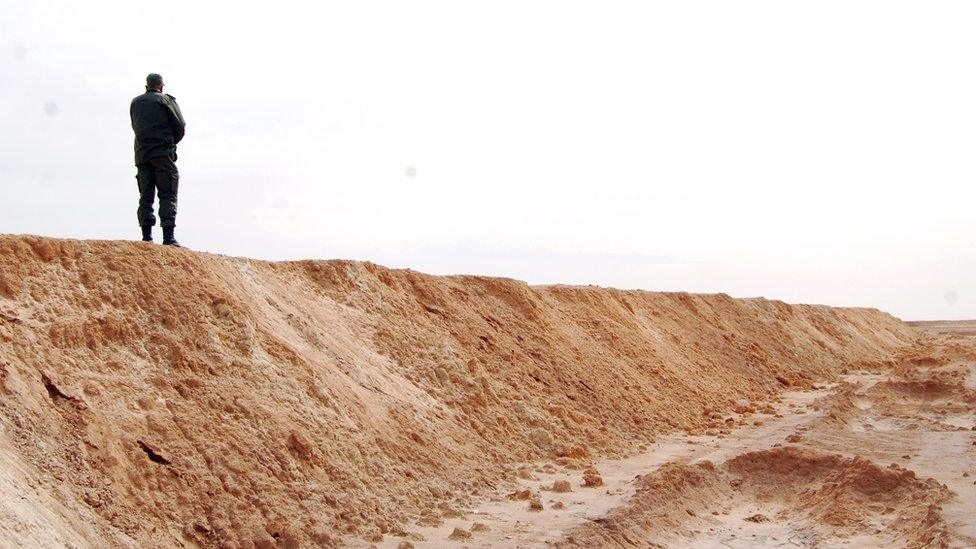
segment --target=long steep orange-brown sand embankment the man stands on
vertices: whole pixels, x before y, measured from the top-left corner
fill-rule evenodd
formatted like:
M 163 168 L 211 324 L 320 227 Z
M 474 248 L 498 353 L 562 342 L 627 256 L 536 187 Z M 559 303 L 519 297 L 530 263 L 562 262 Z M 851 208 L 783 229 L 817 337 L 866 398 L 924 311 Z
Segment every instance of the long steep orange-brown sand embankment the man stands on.
M 918 338 L 870 309 L 0 236 L 0 480 L 22 496 L 0 528 L 79 545 L 406 535 L 514 462 L 703 432 Z

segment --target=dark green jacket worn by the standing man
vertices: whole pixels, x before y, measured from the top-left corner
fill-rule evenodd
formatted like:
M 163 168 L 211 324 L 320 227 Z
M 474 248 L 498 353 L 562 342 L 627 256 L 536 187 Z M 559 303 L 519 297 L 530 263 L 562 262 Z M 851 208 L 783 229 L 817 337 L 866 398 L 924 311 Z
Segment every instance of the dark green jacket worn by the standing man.
M 147 91 L 132 100 L 129 118 L 136 132 L 137 166 L 160 156 L 176 159 L 176 144 L 183 139 L 186 122 L 175 97 Z

